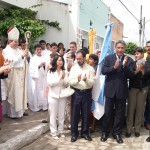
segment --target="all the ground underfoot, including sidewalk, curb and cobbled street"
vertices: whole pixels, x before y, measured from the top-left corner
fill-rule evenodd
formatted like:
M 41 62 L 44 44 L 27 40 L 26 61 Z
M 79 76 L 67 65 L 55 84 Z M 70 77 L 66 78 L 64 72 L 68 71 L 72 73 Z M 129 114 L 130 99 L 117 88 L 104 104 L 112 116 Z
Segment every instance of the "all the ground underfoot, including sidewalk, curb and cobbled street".
M 2 128 L 0 130 L 0 150 L 150 150 L 150 143 L 146 142 L 148 131 L 145 128 L 142 128 L 139 138 L 132 135 L 127 139 L 124 131 L 124 144 L 117 144 L 112 137 L 107 142 L 100 142 L 100 130 L 97 124 L 95 133 L 91 134 L 93 141 L 87 142 L 79 137 L 75 143 L 72 143 L 70 142 L 70 130 L 65 130 L 66 137 L 59 140 L 54 140 L 50 136 L 47 131 L 48 124 L 41 123 L 42 119 L 47 118 L 47 112 L 33 113 L 29 110 L 27 112 L 29 116 L 21 119 L 4 117 L 0 124 Z M 47 132 L 43 132 L 45 133 L 43 135 L 42 130 L 46 127 Z

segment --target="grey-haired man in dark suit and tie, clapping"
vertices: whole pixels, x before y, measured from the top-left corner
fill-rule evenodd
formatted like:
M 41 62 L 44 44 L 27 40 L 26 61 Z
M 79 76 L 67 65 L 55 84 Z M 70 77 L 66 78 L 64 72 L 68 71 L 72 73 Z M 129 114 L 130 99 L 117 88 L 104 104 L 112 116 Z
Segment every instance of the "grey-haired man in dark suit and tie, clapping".
M 123 143 L 121 131 L 128 96 L 127 79 L 134 75 L 135 67 L 133 60 L 124 55 L 125 46 L 126 43 L 123 40 L 117 41 L 115 44 L 116 53 L 105 58 L 102 68 L 102 73 L 106 75 L 104 89 L 106 101 L 101 141 L 107 140 L 110 127 L 113 125 L 113 137 L 117 143 Z

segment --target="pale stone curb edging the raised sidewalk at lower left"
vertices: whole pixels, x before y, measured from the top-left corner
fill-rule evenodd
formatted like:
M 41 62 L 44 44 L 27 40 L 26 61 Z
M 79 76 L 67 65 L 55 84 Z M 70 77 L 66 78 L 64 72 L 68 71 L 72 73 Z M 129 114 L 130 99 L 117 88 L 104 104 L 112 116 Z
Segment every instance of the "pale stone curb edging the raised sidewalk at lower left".
M 0 150 L 19 150 L 49 130 L 49 123 L 40 124 L 0 144 Z

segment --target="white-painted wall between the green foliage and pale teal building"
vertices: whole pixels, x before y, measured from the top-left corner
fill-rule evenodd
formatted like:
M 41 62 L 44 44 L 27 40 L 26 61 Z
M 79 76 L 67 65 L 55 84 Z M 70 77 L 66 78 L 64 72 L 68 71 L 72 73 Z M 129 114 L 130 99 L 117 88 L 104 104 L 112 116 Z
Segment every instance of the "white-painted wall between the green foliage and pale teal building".
M 79 25 L 78 16 L 78 0 L 75 0 L 72 5 L 63 4 L 60 2 L 54 2 L 53 0 L 39 0 L 39 3 L 43 5 L 38 9 L 37 17 L 43 20 L 58 21 L 60 23 L 61 31 L 55 28 L 47 27 L 46 34 L 40 37 L 40 39 L 46 40 L 46 42 L 62 42 L 65 48 L 71 41 L 76 41 L 77 27 Z

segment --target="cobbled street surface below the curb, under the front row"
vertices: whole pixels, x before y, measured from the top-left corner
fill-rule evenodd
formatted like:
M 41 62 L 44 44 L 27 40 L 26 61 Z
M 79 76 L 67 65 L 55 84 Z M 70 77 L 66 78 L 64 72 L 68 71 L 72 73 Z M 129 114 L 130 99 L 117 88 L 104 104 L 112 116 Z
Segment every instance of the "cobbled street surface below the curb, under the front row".
M 54 140 L 49 132 L 41 136 L 32 144 L 23 147 L 21 150 L 149 150 L 150 143 L 145 139 L 148 131 L 142 129 L 141 136 L 135 138 L 124 137 L 124 144 L 117 144 L 114 139 L 109 138 L 107 142 L 100 142 L 99 131 L 92 134 L 93 141 L 87 142 L 79 138 L 75 143 L 70 142 L 70 131 L 66 130 L 66 137 Z

